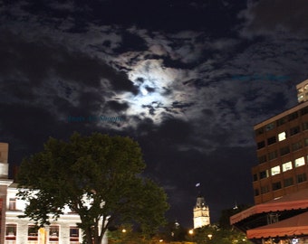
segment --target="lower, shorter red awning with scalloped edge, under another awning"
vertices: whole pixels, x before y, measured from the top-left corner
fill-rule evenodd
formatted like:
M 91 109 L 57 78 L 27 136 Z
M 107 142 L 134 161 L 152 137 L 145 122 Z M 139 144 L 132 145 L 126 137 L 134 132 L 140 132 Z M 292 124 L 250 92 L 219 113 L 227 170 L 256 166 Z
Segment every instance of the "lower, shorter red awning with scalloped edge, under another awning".
M 248 239 L 308 235 L 308 211 L 284 221 L 247 230 Z

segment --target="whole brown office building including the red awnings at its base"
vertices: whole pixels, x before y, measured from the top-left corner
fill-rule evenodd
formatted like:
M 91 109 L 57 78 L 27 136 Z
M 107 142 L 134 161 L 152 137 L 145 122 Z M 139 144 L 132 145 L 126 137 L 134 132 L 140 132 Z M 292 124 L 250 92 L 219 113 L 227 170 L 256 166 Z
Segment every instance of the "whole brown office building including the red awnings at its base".
M 308 242 L 308 80 L 296 89 L 298 105 L 254 127 L 255 206 L 230 222 L 255 243 Z

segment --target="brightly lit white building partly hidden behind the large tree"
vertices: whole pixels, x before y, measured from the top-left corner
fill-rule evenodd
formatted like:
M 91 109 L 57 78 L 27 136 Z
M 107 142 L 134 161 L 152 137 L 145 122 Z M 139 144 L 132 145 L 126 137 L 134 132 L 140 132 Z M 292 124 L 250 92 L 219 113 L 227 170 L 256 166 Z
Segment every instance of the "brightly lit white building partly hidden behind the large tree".
M 34 229 L 34 222 L 23 215 L 26 202 L 18 200 L 18 189 L 8 179 L 8 144 L 0 143 L 0 243 L 4 244 L 79 244 L 82 231 L 77 227 L 79 215 L 69 209 L 50 226 Z M 102 243 L 107 243 L 107 238 Z

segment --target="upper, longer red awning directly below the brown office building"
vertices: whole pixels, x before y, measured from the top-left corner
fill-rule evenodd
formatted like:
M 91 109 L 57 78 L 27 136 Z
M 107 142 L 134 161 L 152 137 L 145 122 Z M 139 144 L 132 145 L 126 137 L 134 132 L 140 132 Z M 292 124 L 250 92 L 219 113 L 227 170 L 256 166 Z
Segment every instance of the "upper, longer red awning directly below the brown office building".
M 236 222 L 243 221 L 249 216 L 257 213 L 299 209 L 308 209 L 308 189 L 294 192 L 269 202 L 257 204 L 245 211 L 238 212 L 231 216 L 230 223 L 235 224 Z

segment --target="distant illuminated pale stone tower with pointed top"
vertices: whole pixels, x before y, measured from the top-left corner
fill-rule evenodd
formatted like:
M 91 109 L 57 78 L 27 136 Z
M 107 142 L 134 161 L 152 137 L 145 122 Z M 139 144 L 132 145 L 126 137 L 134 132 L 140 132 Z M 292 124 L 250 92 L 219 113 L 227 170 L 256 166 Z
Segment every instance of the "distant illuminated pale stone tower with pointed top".
M 209 208 L 204 197 L 198 196 L 194 207 L 194 229 L 210 224 Z

